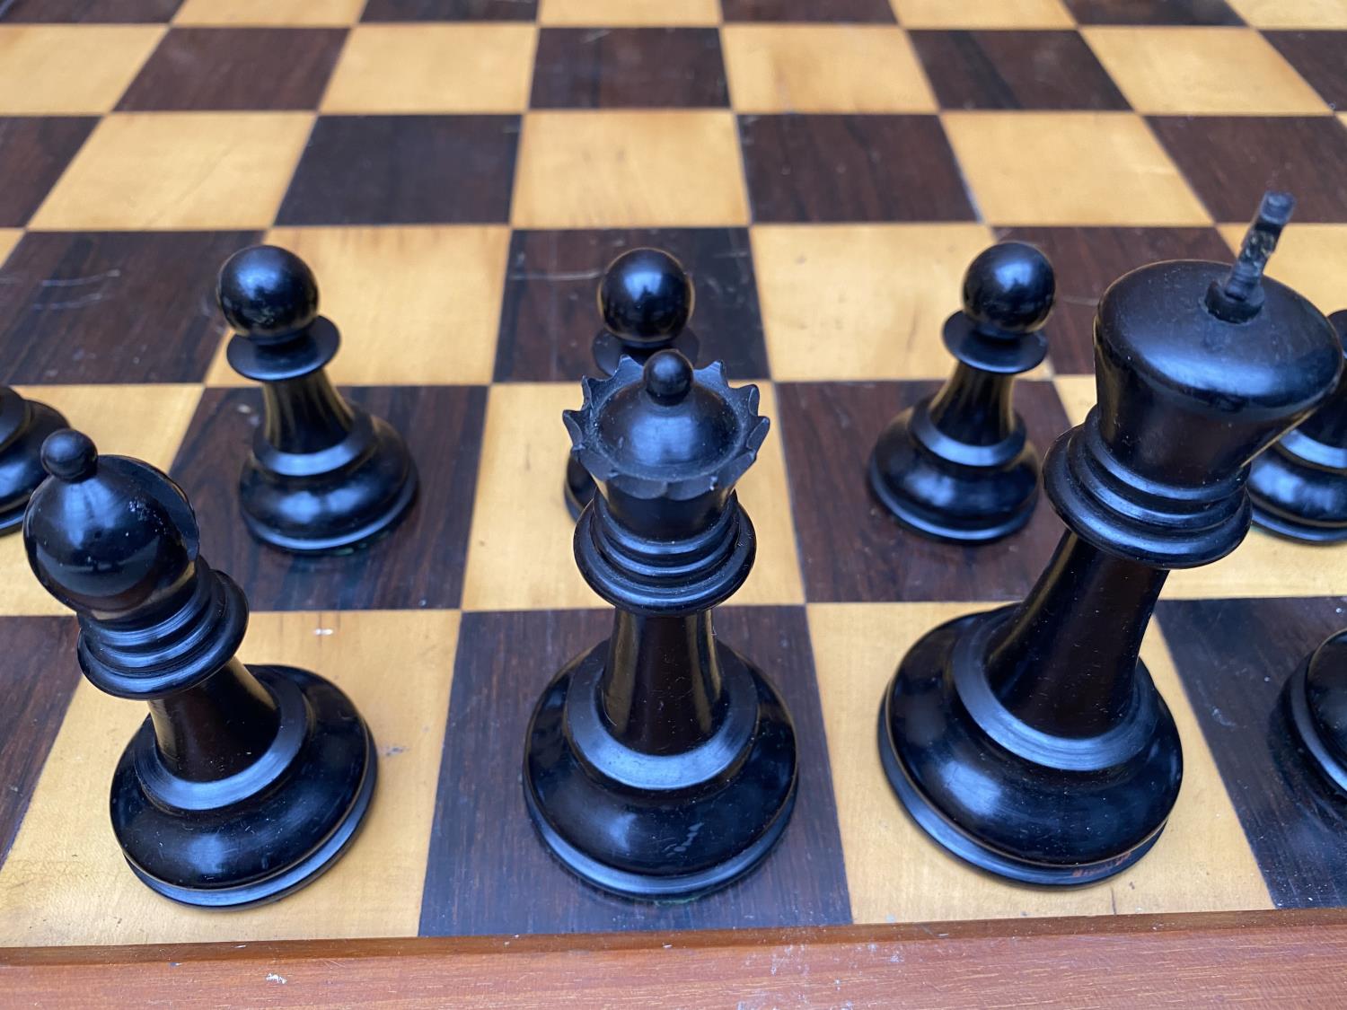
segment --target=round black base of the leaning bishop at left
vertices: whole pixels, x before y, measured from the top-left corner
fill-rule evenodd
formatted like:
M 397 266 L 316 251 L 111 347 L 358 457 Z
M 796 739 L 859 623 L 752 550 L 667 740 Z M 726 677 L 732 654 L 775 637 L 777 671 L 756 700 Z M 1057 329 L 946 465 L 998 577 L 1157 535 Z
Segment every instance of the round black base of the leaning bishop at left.
M 290 894 L 354 840 L 377 777 L 374 741 L 331 683 L 292 667 L 253 667 L 280 729 L 229 778 L 174 778 L 147 719 L 112 782 L 112 827 L 132 871 L 166 898 L 244 908 Z

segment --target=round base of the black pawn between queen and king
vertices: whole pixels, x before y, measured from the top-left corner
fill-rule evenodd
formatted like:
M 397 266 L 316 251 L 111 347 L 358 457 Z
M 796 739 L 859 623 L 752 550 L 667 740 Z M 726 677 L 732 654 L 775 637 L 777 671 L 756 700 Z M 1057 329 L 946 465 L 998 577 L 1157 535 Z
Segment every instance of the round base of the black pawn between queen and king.
M 884 430 L 869 477 L 898 523 L 951 543 L 1009 536 L 1033 517 L 1039 501 L 1039 458 L 1022 430 L 997 446 L 968 446 L 936 431 L 924 404 Z

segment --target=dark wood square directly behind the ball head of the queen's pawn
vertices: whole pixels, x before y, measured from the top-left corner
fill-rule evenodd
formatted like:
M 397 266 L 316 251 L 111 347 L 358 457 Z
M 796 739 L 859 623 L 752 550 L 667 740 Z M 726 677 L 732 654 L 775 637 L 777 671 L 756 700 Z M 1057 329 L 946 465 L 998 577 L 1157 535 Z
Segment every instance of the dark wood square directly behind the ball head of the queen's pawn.
M 748 230 L 516 232 L 511 240 L 496 381 L 575 381 L 595 374 L 591 345 L 601 319 L 595 288 L 624 249 L 665 249 L 692 275 L 690 329 L 699 364 L 723 361 L 735 380 L 766 378 L 766 343 Z

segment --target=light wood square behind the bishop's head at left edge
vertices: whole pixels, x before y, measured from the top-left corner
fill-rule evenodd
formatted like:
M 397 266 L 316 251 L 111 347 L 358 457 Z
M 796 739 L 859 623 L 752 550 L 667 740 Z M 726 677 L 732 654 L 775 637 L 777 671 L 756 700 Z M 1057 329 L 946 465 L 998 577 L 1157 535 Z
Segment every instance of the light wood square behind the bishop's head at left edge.
M 172 465 L 201 399 L 198 385 L 19 385 L 23 396 L 65 415 L 100 452 Z M 152 417 L 152 423 L 145 419 Z M 0 614 L 66 614 L 28 568 L 23 537 L 0 537 Z

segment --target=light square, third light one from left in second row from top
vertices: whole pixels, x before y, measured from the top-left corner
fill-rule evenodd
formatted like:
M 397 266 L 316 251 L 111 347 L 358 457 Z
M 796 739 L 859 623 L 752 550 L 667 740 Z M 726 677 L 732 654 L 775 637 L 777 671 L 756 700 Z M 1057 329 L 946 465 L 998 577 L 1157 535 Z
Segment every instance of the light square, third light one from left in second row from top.
M 890 26 L 727 24 L 737 112 L 935 112 L 907 32 Z

